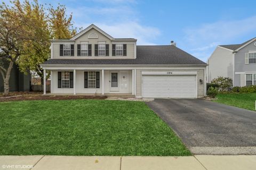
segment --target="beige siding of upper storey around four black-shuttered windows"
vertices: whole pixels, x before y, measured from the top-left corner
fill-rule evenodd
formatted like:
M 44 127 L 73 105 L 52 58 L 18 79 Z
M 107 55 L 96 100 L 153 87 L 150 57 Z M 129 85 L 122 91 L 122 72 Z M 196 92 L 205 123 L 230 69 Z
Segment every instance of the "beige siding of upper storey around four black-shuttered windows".
M 95 33 L 98 35 L 98 38 L 88 38 L 88 36 L 91 33 Z M 109 44 L 109 56 L 105 57 L 99 57 L 99 56 L 94 56 L 94 45 L 98 44 L 99 41 L 104 41 L 106 44 Z M 85 57 L 85 56 L 77 56 L 77 44 L 81 44 L 81 42 L 87 42 L 88 44 L 92 45 L 92 56 Z M 89 59 L 100 59 L 100 58 L 134 58 L 134 43 L 125 43 L 126 44 L 126 56 L 112 56 L 112 44 L 115 44 L 115 42 L 111 41 L 108 37 L 102 35 L 102 33 L 98 32 L 95 29 L 91 29 L 90 31 L 84 33 L 81 37 L 77 38 L 75 40 L 75 55 L 72 57 L 67 57 L 67 56 L 60 56 L 60 44 L 68 44 L 68 43 L 58 43 L 58 44 L 53 44 L 53 58 L 89 58 Z

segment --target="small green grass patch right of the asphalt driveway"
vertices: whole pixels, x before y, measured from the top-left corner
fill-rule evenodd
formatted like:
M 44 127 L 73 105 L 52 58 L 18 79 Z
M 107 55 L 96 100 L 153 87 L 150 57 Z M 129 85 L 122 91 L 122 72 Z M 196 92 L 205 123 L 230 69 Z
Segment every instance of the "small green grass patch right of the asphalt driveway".
M 252 94 L 218 94 L 217 100 L 214 100 L 218 103 L 223 103 L 230 106 L 236 106 L 245 108 L 251 111 L 255 111 L 255 100 L 256 93 Z

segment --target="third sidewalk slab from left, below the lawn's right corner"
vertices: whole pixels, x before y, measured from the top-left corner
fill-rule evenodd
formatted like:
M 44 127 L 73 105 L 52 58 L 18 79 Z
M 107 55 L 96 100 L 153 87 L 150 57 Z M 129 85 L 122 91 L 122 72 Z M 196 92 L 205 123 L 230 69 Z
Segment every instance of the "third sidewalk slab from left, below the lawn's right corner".
M 187 157 L 122 157 L 122 170 L 165 170 L 165 169 L 197 169 L 205 168 L 194 156 Z

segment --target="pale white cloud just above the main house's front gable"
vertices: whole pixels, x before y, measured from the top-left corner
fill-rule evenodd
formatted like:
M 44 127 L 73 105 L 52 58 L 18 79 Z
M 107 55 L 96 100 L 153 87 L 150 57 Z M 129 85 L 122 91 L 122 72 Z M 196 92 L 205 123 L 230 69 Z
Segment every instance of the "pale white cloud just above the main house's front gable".
M 96 22 L 94 24 L 114 38 L 135 38 L 138 40 L 138 45 L 155 45 L 153 40 L 161 35 L 161 32 L 157 28 L 147 27 L 133 21 L 116 24 Z M 90 24 L 84 24 L 83 28 L 89 25 Z

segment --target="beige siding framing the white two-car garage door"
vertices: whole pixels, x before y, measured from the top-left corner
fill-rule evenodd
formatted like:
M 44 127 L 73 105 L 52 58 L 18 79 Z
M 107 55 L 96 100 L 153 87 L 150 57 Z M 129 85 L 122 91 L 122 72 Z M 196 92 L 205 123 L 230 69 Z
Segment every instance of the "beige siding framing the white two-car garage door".
M 136 72 L 136 93 L 138 97 L 141 97 L 141 71 L 142 70 L 137 70 Z M 143 71 L 152 71 L 152 70 L 143 70 Z M 197 71 L 197 97 L 201 98 L 204 97 L 204 69 L 198 69 L 198 70 L 186 70 L 186 69 L 182 69 L 182 70 L 154 70 L 154 71 Z M 200 83 L 200 79 L 203 80 L 203 84 Z M 189 84 L 188 84 L 189 86 Z

